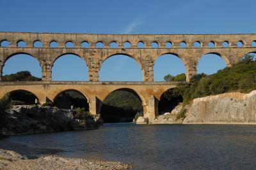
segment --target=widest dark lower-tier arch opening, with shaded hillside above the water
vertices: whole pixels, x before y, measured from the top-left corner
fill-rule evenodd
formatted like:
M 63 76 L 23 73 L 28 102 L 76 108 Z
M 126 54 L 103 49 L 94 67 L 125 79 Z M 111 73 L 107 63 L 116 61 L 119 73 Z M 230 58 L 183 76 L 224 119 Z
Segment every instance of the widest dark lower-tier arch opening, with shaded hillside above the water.
M 143 115 L 144 103 L 145 99 L 136 90 L 115 89 L 104 97 L 100 114 L 105 123 L 132 122 L 136 113 L 140 112 Z

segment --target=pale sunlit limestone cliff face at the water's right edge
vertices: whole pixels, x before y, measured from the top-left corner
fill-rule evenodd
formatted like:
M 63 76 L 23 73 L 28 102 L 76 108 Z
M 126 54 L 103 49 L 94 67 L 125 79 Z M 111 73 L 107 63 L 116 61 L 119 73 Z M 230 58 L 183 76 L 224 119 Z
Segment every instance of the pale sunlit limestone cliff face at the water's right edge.
M 256 124 L 256 90 L 194 99 L 183 124 Z

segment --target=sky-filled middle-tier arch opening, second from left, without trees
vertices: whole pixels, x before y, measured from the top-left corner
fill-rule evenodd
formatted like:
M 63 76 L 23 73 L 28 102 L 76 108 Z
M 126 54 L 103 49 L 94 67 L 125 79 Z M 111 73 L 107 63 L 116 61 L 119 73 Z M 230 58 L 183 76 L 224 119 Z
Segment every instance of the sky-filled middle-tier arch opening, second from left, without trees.
M 63 53 L 52 62 L 53 81 L 88 81 L 88 67 L 76 53 Z

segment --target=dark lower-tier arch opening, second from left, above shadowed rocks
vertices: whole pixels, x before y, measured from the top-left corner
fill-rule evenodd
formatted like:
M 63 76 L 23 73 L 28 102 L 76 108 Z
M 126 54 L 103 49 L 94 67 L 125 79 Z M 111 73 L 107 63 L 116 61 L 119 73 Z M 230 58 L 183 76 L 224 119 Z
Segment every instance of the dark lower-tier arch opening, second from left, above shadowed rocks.
M 76 89 L 61 90 L 53 97 L 52 102 L 57 108 L 70 109 L 74 106 L 89 111 L 88 97 Z

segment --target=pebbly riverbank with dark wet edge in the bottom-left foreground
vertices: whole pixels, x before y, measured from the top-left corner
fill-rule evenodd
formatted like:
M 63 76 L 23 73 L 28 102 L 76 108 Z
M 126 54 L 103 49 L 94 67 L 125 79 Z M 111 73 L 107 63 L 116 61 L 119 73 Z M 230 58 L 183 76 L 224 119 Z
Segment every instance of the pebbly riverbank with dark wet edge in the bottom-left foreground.
M 76 159 L 55 155 L 61 150 L 31 148 L 0 141 L 0 169 L 129 169 L 121 162 Z

